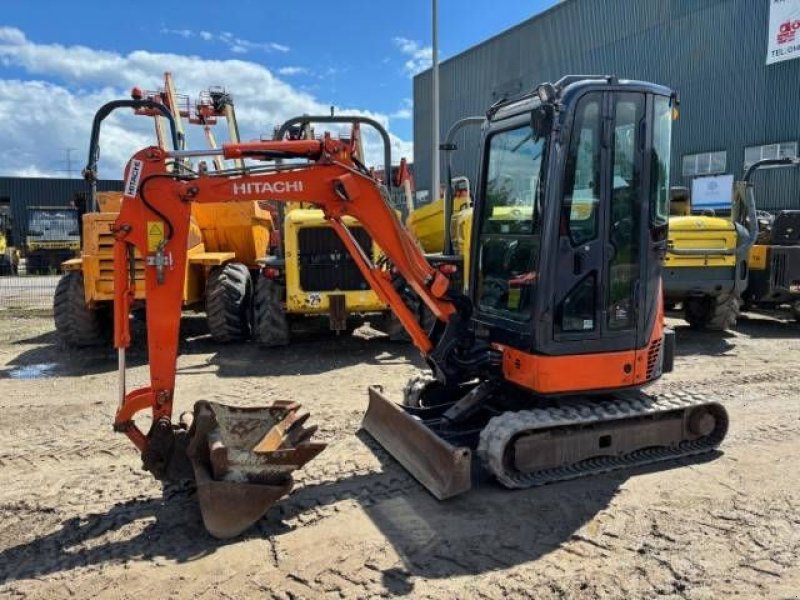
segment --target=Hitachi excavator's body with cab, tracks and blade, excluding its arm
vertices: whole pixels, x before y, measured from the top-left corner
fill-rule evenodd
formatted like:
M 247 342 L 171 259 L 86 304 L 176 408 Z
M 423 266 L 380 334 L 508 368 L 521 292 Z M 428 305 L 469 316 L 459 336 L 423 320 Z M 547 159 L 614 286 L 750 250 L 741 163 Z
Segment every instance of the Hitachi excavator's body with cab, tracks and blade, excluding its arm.
M 401 406 L 372 388 L 363 423 L 437 498 L 470 489 L 473 451 L 522 488 L 725 435 L 719 404 L 640 390 L 672 369 L 661 265 L 676 104 L 650 83 L 567 77 L 489 110 L 462 350 Z

